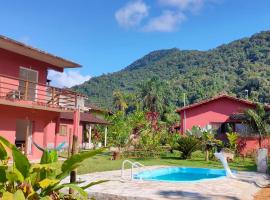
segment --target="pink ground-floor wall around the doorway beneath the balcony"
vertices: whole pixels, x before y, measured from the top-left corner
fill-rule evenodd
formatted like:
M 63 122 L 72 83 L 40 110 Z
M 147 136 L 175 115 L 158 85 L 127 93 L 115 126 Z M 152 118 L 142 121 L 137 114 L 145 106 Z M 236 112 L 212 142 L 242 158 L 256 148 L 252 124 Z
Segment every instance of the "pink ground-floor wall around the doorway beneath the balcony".
M 25 119 L 33 122 L 32 140 L 44 147 L 45 127 L 57 119 L 58 113 L 0 105 L 0 135 L 15 144 L 16 120 Z M 40 158 L 42 152 L 32 145 L 30 159 Z

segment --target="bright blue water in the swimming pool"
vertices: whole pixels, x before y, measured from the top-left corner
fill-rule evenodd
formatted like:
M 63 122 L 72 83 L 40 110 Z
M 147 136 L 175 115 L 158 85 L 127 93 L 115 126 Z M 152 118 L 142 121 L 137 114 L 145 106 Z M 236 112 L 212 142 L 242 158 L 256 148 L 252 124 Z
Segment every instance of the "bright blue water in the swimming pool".
M 169 167 L 143 171 L 135 174 L 134 178 L 151 181 L 192 182 L 225 176 L 226 172 L 223 169 Z

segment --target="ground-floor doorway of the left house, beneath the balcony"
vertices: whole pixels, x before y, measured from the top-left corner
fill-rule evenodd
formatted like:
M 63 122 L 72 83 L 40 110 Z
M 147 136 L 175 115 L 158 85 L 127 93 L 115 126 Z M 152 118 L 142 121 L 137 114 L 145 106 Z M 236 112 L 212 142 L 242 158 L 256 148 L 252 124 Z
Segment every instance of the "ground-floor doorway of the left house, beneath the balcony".
M 15 144 L 25 154 L 32 153 L 33 123 L 29 120 L 16 120 Z

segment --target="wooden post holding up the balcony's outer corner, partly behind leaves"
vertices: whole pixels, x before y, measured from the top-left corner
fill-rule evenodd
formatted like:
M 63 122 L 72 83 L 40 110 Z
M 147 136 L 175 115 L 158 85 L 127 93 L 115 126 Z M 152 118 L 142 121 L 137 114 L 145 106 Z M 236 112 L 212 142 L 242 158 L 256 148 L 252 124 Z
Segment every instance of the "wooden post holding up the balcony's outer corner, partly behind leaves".
M 72 149 L 71 156 L 78 153 L 78 131 L 80 125 L 80 109 L 76 108 L 73 115 L 73 138 L 72 138 Z M 73 170 L 70 172 L 70 183 L 76 182 L 77 170 Z M 73 194 L 74 190 L 69 189 L 69 193 Z

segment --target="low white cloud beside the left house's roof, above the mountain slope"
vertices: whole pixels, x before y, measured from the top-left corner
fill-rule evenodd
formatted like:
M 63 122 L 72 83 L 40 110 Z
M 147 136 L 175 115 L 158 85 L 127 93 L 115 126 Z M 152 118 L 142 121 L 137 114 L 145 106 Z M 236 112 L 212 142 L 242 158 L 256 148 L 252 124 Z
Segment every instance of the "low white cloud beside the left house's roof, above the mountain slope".
M 82 75 L 77 70 L 69 70 L 63 73 L 49 70 L 48 78 L 52 80 L 51 85 L 56 87 L 72 87 L 88 81 L 89 75 Z

